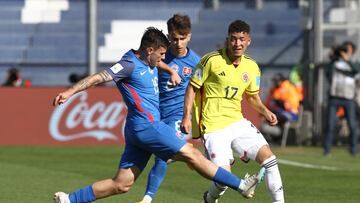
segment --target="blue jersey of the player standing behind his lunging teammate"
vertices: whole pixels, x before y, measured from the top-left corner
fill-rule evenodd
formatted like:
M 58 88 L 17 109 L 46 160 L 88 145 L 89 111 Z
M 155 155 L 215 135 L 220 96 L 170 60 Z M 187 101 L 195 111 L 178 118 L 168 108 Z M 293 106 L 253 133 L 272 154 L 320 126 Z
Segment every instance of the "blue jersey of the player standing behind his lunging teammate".
M 170 50 L 166 52 L 165 63 L 177 71 L 181 83 L 176 87 L 170 87 L 170 75 L 164 71 L 159 72 L 161 119 L 170 116 L 182 117 L 186 87 L 190 81 L 192 70 L 199 61 L 199 55 L 191 49 L 188 49 L 186 56 L 183 57 L 175 57 Z

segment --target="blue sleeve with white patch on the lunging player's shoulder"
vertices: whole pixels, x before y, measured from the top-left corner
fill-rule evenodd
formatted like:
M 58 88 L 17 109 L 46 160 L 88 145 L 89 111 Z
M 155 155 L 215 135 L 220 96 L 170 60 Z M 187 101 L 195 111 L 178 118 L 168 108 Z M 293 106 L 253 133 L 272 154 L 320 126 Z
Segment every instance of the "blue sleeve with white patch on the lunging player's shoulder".
M 131 61 L 121 60 L 113 66 L 107 68 L 106 71 L 113 77 L 115 82 L 118 82 L 130 77 L 134 68 L 135 65 Z

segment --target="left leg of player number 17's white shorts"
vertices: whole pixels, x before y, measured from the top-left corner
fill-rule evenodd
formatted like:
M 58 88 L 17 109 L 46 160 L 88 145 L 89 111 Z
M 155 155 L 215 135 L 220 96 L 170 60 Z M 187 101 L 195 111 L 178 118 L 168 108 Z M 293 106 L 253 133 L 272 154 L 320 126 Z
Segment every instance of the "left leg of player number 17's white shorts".
M 206 154 L 217 166 L 230 165 L 234 160 L 230 133 L 230 129 L 225 128 L 203 136 Z

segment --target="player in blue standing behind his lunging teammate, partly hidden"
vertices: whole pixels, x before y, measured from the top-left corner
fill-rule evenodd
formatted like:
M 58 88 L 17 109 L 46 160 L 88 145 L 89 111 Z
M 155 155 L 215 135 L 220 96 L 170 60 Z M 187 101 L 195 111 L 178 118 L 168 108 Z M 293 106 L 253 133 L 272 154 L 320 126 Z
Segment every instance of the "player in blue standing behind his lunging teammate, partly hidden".
M 165 64 L 159 64 L 160 69 L 166 70 L 159 72 L 160 115 L 161 120 L 173 128 L 177 136 L 187 140 L 191 135 L 184 134 L 180 130 L 184 95 L 192 70 L 200 61 L 200 56 L 188 48 L 191 22 L 187 15 L 175 14 L 167 21 L 167 28 L 170 46 L 165 54 Z M 155 164 L 148 176 L 145 195 L 139 203 L 152 201 L 165 177 L 166 170 L 167 163 L 155 157 Z

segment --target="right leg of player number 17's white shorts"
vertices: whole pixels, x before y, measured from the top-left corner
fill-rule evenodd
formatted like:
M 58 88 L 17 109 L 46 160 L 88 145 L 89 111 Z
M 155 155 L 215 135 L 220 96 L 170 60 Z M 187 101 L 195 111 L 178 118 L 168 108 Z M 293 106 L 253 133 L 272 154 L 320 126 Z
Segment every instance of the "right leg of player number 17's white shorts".
M 247 119 L 234 123 L 231 130 L 231 148 L 244 158 L 255 160 L 259 150 L 268 145 L 261 132 Z

